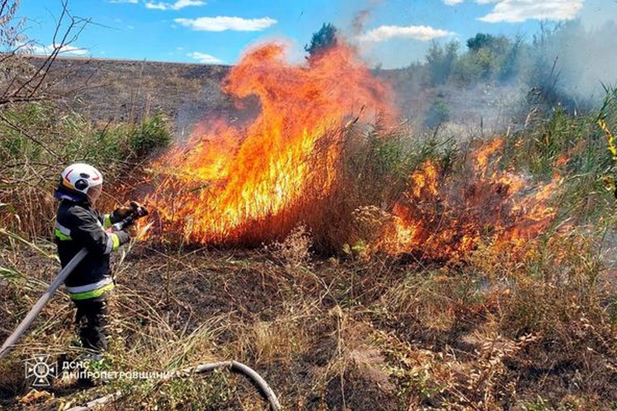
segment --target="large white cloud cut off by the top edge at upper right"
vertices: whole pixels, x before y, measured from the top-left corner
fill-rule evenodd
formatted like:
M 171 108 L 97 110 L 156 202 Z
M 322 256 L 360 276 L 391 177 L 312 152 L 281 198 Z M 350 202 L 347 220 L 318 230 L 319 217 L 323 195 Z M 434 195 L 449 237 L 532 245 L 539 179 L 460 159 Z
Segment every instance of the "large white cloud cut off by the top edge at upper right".
M 478 0 L 487 4 L 490 0 Z M 501 0 L 492 12 L 478 20 L 487 23 L 520 23 L 525 20 L 572 20 L 584 0 Z

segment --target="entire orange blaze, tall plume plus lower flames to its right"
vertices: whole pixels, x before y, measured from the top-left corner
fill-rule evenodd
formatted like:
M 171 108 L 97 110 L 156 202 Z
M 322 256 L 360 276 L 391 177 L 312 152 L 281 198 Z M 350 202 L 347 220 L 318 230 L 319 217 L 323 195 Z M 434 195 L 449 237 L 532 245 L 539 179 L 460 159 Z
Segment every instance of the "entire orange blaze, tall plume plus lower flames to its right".
M 277 44 L 258 47 L 225 79 L 225 92 L 244 104 L 259 98 L 260 111 L 249 124 L 204 122 L 155 164 L 160 180 L 148 201 L 164 231 L 200 243 L 259 244 L 326 216 L 322 229 L 338 225 L 352 241 L 355 233 L 378 250 L 449 259 L 486 238 L 516 249 L 552 223 L 555 210 L 547 200 L 559 176 L 534 186 L 502 171 L 502 139 L 471 151 L 457 173 L 424 162 L 389 209 L 366 199 L 368 207 L 350 212 L 345 183 L 337 180 L 347 127 L 360 117 L 394 113 L 387 104 L 391 91 L 350 47 L 335 47 L 307 65 L 289 65 L 283 51 Z

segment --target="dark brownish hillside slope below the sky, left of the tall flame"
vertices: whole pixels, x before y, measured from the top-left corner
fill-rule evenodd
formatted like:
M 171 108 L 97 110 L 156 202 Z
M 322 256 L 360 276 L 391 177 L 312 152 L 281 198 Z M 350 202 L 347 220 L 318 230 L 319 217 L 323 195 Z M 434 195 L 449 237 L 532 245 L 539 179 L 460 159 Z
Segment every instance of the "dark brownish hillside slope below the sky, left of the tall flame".
M 31 62 L 40 64 L 37 57 Z M 233 102 L 220 91 L 228 70 L 217 65 L 59 58 L 49 79 L 62 91 L 56 102 L 88 119 L 105 124 L 164 114 L 173 119 L 178 134 L 186 136 L 204 113 L 233 116 Z

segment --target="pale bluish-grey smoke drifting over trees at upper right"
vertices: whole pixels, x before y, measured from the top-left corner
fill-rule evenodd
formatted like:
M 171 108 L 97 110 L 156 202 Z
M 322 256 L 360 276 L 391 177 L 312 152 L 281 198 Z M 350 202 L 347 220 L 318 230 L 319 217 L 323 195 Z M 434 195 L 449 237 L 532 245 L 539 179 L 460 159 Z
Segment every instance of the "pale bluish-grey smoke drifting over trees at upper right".
M 596 108 L 603 85 L 617 82 L 615 38 L 612 21 L 543 23 L 526 38 L 479 33 L 462 44 L 433 42 L 426 62 L 379 73 L 394 82 L 401 112 L 417 126 L 459 135 L 499 132 L 537 106 L 569 114 Z M 427 121 L 435 107 L 437 124 Z

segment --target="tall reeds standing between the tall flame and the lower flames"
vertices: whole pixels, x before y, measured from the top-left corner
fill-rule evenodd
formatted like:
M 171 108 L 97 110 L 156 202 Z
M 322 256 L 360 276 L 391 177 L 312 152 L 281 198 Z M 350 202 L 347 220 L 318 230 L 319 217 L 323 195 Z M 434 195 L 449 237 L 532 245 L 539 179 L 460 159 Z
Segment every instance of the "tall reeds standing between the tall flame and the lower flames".
M 395 127 L 378 122 L 346 133 L 333 189 L 315 202 L 312 215 L 302 217 L 312 229 L 315 245 L 327 253 L 340 254 L 344 246 L 363 248 L 362 244 L 378 233 L 373 226 L 363 226 L 358 215 L 363 210 L 378 215 L 391 211 L 407 190 L 416 167 L 434 159 L 447 168 L 457 153 L 452 141 L 418 134 L 406 122 Z

